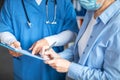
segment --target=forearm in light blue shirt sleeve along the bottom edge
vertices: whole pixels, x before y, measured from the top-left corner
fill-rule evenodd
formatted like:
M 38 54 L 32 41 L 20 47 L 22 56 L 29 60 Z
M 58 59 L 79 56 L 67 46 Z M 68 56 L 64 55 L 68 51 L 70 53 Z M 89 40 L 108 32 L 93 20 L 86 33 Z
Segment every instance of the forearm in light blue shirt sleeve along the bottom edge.
M 114 80 L 106 71 L 92 69 L 74 62 L 69 67 L 68 76 L 75 80 Z

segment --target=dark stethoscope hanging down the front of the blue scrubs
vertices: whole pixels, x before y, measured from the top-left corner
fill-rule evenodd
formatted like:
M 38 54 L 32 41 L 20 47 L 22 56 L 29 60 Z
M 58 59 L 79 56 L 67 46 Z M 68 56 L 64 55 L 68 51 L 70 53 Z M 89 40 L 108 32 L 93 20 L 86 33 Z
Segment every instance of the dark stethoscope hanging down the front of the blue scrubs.
M 46 0 L 45 5 L 46 5 L 46 24 L 57 24 L 57 22 L 56 22 L 57 0 L 54 0 L 54 18 L 53 18 L 53 21 L 50 21 L 48 18 L 48 14 L 49 14 L 49 12 L 48 12 L 48 0 Z M 24 4 L 24 0 L 22 0 L 22 6 L 23 6 L 23 9 L 25 12 L 26 19 L 27 19 L 27 24 L 29 27 L 31 27 L 32 23 L 30 22 L 30 19 L 28 17 L 27 10 L 26 10 L 25 4 Z

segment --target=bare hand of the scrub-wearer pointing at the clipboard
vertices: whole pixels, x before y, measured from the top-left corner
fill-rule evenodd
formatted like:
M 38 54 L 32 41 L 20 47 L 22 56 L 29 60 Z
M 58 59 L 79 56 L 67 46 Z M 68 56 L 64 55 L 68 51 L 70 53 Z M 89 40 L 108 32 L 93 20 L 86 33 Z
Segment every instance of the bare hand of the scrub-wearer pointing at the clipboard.
M 43 46 L 49 46 L 49 43 L 45 39 L 35 42 L 29 50 L 32 50 L 32 54 L 39 54 L 42 51 Z

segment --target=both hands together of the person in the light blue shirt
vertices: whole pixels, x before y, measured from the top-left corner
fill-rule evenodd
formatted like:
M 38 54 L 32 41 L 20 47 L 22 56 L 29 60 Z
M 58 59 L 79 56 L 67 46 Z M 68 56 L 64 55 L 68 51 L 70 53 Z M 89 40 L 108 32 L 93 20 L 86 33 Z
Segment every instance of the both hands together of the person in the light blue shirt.
M 52 68 L 58 72 L 68 72 L 70 66 L 69 61 L 62 59 L 53 49 L 47 50 L 49 46 L 43 47 L 42 56 L 45 59 L 45 63 L 49 64 Z

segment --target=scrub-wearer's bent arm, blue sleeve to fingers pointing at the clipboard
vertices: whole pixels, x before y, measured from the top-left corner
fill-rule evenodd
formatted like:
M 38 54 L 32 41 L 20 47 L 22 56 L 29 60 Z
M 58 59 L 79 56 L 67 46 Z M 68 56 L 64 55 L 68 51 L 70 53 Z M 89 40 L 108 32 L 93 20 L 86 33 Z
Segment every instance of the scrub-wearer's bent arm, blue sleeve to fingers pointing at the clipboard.
M 64 19 L 61 25 L 60 33 L 46 37 L 33 44 L 30 48 L 33 54 L 40 52 L 42 46 L 49 46 L 54 42 L 56 42 L 55 46 L 64 46 L 65 44 L 75 39 L 78 32 L 78 27 L 76 21 L 76 13 L 70 0 L 65 0 L 65 10 L 62 17 L 64 17 Z

